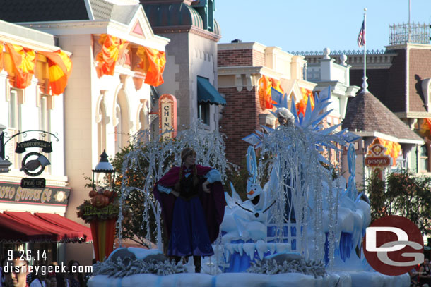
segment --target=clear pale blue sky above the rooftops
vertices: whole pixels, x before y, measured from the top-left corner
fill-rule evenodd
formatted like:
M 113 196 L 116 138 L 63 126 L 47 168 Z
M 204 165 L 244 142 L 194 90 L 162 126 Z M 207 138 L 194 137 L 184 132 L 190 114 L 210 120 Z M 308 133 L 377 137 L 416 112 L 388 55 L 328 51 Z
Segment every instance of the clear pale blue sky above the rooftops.
M 367 8 L 367 50 L 389 44 L 389 24 L 408 22 L 408 0 L 215 0 L 220 43 L 232 39 L 284 51 L 358 50 Z M 411 22 L 431 23 L 431 0 L 411 0 Z

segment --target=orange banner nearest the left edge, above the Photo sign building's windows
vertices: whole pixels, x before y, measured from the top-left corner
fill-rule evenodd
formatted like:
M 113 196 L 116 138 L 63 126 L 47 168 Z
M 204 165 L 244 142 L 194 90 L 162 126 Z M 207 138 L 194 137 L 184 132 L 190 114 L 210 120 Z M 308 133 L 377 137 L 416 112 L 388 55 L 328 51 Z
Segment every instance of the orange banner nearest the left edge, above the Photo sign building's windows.
M 15 44 L 6 44 L 6 51 L 11 57 L 11 62 L 5 64 L 8 75 L 15 75 L 15 87 L 25 89 L 33 78 L 36 54 L 32 49 L 28 49 Z

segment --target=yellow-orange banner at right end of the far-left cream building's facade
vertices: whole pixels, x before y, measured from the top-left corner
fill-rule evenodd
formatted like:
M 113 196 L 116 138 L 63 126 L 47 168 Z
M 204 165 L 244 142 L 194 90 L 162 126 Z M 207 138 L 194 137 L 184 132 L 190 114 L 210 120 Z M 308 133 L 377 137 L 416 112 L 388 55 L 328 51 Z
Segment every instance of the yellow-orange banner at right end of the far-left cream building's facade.
M 64 51 L 40 51 L 48 59 L 49 87 L 53 94 L 61 94 L 72 72 L 72 61 Z

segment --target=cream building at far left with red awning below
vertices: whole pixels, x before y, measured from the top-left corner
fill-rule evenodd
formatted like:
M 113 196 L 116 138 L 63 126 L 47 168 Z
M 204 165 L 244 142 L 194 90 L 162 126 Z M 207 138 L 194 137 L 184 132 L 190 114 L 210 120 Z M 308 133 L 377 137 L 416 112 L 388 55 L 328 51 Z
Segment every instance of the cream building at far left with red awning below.
M 66 241 L 91 239 L 85 226 L 56 227 L 73 223 L 64 218 L 71 193 L 65 170 L 63 91 L 68 79 L 64 75 L 64 82 L 56 84 L 51 67 L 57 64 L 51 59 L 64 56 L 62 64 L 70 72 L 71 52 L 61 50 L 54 35 L 46 32 L 4 21 L 0 31 L 0 157 L 11 163 L 0 174 L 0 254 L 25 249 L 46 255 L 49 262 L 64 260 L 64 247 L 73 245 Z M 24 169 L 41 155 L 48 165 Z M 22 183 L 31 179 L 45 186 Z

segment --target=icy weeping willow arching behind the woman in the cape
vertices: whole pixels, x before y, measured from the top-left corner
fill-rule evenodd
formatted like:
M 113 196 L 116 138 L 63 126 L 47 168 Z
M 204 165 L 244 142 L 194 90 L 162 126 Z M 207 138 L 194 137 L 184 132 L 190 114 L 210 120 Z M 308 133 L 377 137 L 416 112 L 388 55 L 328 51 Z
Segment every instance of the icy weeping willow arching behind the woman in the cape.
M 208 133 L 198 124 L 179 131 L 174 139 L 167 139 L 167 133 L 153 135 L 149 130 L 140 131 L 112 161 L 118 174 L 116 191 L 120 206 L 126 205 L 131 212 L 131 220 L 121 226 L 122 237 L 143 245 L 167 243 L 167 238 L 163 240 L 162 224 L 156 224 L 163 219 L 152 190 L 172 166 L 181 164 L 184 147 L 195 150 L 196 163 L 217 169 L 222 181 L 232 166 L 225 159 L 223 134 L 218 131 Z

